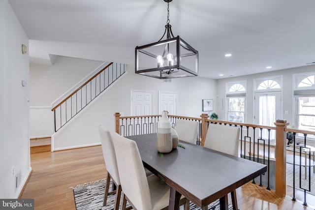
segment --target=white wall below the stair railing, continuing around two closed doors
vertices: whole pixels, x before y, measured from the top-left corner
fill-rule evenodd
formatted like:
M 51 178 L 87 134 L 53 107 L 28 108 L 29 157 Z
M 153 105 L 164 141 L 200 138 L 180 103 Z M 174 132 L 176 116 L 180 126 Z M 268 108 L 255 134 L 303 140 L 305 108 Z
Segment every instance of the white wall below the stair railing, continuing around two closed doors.
M 163 83 L 163 80 L 136 75 L 133 66 L 128 65 L 127 69 L 128 73 L 114 87 L 53 136 L 53 150 L 100 144 L 97 130 L 99 124 L 114 131 L 115 112 L 124 112 L 125 116 L 130 116 L 131 90 L 153 91 L 153 114 L 158 114 L 159 90 L 178 93 L 177 114 L 182 116 L 200 117 L 202 99 L 216 100 L 216 81 L 213 79 L 189 77 Z

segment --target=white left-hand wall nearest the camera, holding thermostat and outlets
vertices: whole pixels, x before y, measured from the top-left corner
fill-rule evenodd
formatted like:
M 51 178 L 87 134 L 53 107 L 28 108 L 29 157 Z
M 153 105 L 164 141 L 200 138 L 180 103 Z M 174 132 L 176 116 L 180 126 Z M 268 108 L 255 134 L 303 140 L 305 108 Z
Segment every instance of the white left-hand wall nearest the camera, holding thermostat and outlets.
M 29 86 L 21 85 L 29 82 L 29 54 L 22 54 L 22 44 L 28 47 L 29 39 L 8 1 L 0 0 L 0 198 L 18 198 L 31 173 Z

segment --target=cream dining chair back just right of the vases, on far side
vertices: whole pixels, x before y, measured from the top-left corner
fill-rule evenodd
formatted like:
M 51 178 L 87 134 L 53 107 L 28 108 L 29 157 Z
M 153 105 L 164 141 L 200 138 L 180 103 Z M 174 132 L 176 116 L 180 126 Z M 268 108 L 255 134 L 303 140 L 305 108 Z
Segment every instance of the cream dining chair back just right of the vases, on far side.
M 189 142 L 191 144 L 197 143 L 198 122 L 191 120 L 178 119 L 175 130 L 178 134 L 178 139 Z

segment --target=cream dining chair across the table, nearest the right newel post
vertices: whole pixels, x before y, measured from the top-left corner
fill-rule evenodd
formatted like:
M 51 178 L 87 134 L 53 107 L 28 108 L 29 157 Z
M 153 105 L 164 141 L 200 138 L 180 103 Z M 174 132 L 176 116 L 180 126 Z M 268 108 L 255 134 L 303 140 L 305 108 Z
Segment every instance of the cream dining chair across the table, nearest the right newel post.
M 238 156 L 239 138 L 239 127 L 210 123 L 204 147 Z M 238 210 L 235 190 L 231 192 L 231 198 L 233 210 Z

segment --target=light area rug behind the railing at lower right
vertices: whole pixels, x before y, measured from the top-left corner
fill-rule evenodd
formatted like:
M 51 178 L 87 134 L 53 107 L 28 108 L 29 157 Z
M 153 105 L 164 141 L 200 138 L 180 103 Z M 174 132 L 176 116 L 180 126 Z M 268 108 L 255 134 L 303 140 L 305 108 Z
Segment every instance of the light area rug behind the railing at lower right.
M 309 170 L 309 167 L 308 169 Z M 307 179 L 305 180 L 305 169 L 301 167 L 301 185 L 304 189 L 309 189 L 309 171 L 307 171 Z M 286 164 L 286 185 L 293 187 L 293 165 Z M 300 166 L 295 165 L 295 188 L 304 191 L 300 188 Z M 315 174 L 311 167 L 311 191 L 306 191 L 309 194 L 315 195 Z

